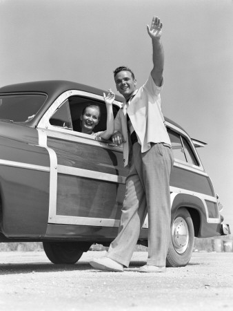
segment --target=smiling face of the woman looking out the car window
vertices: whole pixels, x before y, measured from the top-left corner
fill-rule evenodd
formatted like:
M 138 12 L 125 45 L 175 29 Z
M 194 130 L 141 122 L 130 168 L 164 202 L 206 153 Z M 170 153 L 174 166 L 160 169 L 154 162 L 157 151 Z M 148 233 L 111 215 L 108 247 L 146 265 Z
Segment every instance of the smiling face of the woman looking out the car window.
M 91 134 L 94 126 L 99 123 L 99 109 L 95 107 L 87 107 L 80 119 L 82 133 Z

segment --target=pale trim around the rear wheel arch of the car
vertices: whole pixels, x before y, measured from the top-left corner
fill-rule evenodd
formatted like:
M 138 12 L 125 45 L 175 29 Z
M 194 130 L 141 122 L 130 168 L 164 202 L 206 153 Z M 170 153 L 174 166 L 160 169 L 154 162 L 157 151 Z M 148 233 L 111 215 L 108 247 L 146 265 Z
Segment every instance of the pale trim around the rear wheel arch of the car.
M 205 207 L 205 214 L 206 214 L 206 218 L 207 218 L 207 223 L 221 223 L 220 216 L 219 216 L 219 218 L 210 218 L 209 217 L 207 204 L 205 202 L 205 200 L 207 200 L 210 202 L 217 203 L 217 198 L 215 198 L 214 196 L 207 196 L 206 194 L 199 194 L 199 192 L 180 189 L 180 188 L 176 188 L 176 187 L 170 187 L 170 191 L 172 192 L 172 194 L 171 194 L 171 206 L 172 206 L 174 198 L 177 196 L 177 194 L 188 194 L 190 196 L 195 196 L 195 197 L 199 198 L 201 200 L 201 202 L 203 202 L 203 206 Z

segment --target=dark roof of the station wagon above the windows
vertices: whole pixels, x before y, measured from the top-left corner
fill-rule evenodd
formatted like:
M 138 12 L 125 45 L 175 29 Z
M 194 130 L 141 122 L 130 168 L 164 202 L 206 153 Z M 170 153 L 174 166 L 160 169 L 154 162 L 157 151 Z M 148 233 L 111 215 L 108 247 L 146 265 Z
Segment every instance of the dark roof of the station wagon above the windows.
M 0 88 L 0 93 L 1 94 L 3 93 L 4 94 L 7 94 L 7 93 L 44 93 L 46 94 L 47 100 L 45 101 L 45 104 L 43 104 L 43 107 L 41 108 L 40 113 L 36 115 L 32 121 L 28 122 L 28 125 L 30 126 L 37 126 L 43 113 L 45 113 L 45 111 L 54 102 L 54 100 L 56 100 L 57 97 L 61 95 L 61 93 L 64 93 L 65 91 L 69 91 L 69 90 L 85 91 L 85 92 L 97 94 L 100 96 L 103 96 L 103 92 L 107 92 L 106 90 L 103 90 L 101 88 L 94 88 L 92 86 L 88 86 L 88 85 L 77 83 L 77 82 L 71 82 L 67 80 L 44 80 L 44 81 L 23 82 L 19 84 L 10 84 L 7 86 L 2 86 Z M 116 95 L 115 99 L 119 102 L 123 102 L 122 96 Z M 177 124 L 173 120 L 170 120 L 168 117 L 165 117 L 165 121 L 170 122 L 174 126 L 185 131 L 179 124 Z

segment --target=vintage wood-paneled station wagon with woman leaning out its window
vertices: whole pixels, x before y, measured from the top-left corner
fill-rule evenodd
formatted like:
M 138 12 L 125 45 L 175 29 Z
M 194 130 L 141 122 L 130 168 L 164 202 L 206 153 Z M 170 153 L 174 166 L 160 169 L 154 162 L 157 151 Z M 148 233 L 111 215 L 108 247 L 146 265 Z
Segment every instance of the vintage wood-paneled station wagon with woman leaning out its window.
M 121 108 L 116 96 L 114 116 Z M 128 169 L 121 146 L 81 133 L 80 115 L 99 104 L 103 90 L 69 81 L 41 81 L 0 88 L 0 242 L 43 242 L 52 263 L 76 263 L 93 243 L 117 236 Z M 167 266 L 192 256 L 194 237 L 229 234 L 212 181 L 193 140 L 165 118 L 172 142 L 171 238 Z M 139 244 L 148 243 L 148 219 Z

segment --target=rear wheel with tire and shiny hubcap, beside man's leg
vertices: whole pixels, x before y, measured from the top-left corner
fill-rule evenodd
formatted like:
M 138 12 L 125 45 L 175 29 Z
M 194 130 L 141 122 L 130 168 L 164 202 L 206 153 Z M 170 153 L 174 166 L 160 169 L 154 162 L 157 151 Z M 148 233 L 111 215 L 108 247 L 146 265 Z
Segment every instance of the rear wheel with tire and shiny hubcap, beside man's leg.
M 171 238 L 166 259 L 167 267 L 184 267 L 190 261 L 194 247 L 194 226 L 185 208 L 176 211 L 171 225 Z

